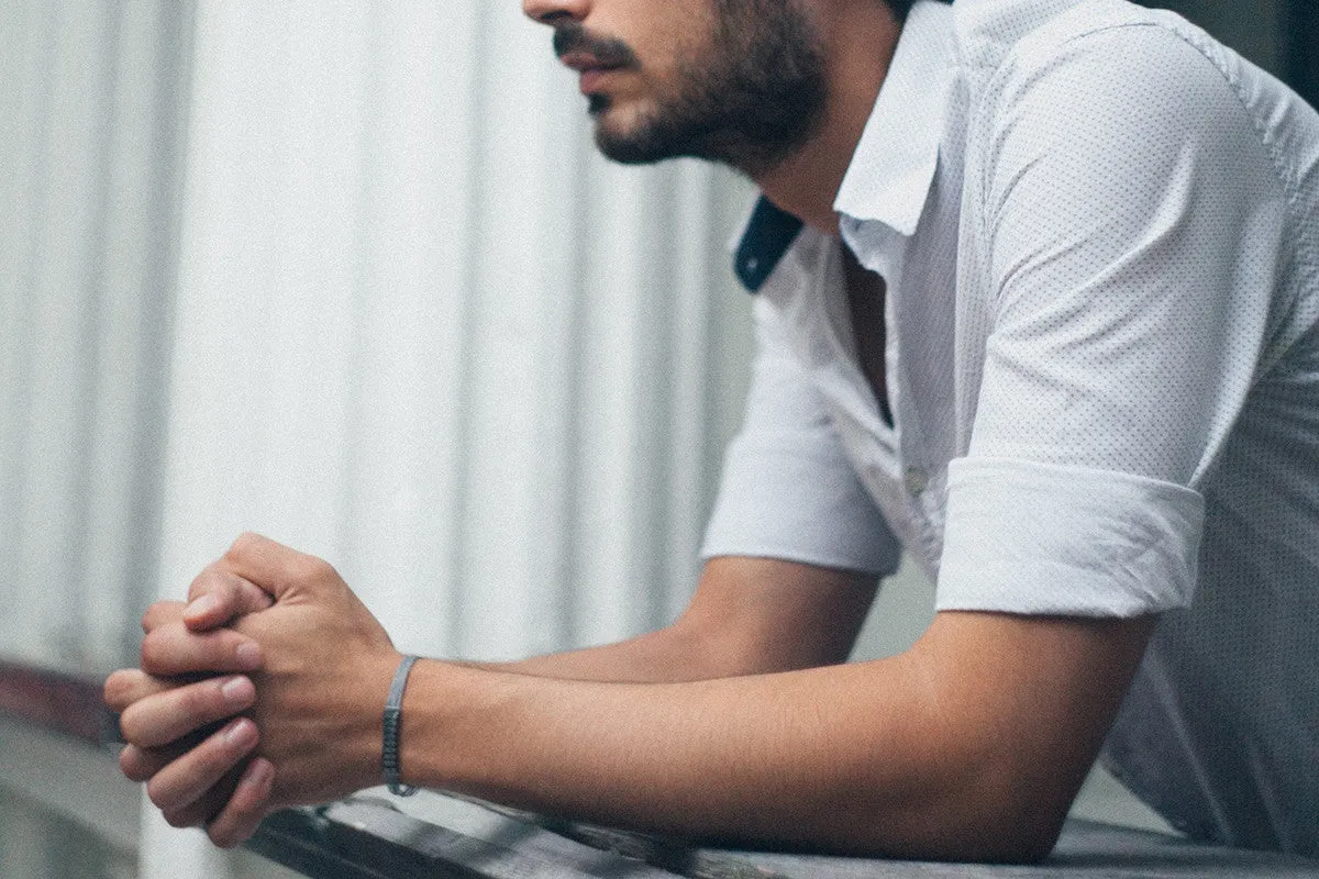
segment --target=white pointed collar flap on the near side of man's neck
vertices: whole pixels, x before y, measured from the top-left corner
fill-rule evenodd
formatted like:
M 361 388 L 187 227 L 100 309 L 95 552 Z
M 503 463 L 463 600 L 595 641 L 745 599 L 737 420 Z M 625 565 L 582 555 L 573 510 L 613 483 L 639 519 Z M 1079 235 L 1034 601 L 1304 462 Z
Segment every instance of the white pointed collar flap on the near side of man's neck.
M 834 210 L 915 232 L 939 159 L 956 63 L 952 7 L 922 0 L 907 13 L 880 96 Z

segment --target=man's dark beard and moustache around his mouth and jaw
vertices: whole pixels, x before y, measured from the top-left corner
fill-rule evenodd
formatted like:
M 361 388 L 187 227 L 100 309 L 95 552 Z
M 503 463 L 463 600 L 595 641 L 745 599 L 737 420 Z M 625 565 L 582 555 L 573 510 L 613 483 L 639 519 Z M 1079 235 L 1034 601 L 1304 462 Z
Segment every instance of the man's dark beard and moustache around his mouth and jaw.
M 699 57 L 679 58 L 675 94 L 657 96 L 654 107 L 627 128 L 607 124 L 608 96 L 591 98 L 601 153 L 627 165 L 687 156 L 756 177 L 815 133 L 827 80 L 823 51 L 805 13 L 793 0 L 714 3 L 711 40 Z M 561 45 L 633 61 L 625 45 L 595 41 L 575 22 L 555 34 L 555 47 Z

